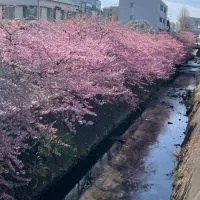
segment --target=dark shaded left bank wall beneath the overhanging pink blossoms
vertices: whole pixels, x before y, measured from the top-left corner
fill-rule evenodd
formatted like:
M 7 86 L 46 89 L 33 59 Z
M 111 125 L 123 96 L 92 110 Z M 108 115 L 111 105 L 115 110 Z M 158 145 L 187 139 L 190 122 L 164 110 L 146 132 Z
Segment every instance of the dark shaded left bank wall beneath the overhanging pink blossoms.
M 161 93 L 163 91 L 160 91 L 161 88 L 167 88 L 180 75 L 178 69 L 179 67 L 177 67 L 176 73 L 174 73 L 169 80 L 158 81 L 156 84 L 152 84 L 151 87 L 148 87 L 145 92 L 138 91 L 138 96 L 140 96 L 141 101 L 138 109 L 128 110 L 127 105 L 119 106 L 119 104 L 116 105 L 116 109 L 113 109 L 114 105 L 112 107 L 99 109 L 101 111 L 105 110 L 105 112 L 99 113 L 97 123 L 94 124 L 92 128 L 85 127 L 85 130 L 81 129 L 81 131 L 78 131 L 74 136 L 74 144 L 79 145 L 76 146 L 78 150 L 77 156 L 71 167 L 66 170 L 66 173 L 62 177 L 49 185 L 34 198 L 38 200 L 62 199 L 62 197 L 68 194 L 75 186 L 75 190 L 77 190 L 75 194 L 73 192 L 74 190 L 72 190 L 72 193 L 76 197 L 74 198 L 69 195 L 69 199 L 78 199 L 85 185 L 88 184 L 86 177 L 90 174 L 90 169 L 98 165 L 98 160 L 105 157 L 104 154 L 109 154 L 110 151 L 113 151 L 113 148 L 111 148 L 112 146 L 114 146 L 115 149 L 116 146 L 116 148 L 119 148 L 119 144 L 124 143 L 124 139 L 121 136 L 124 136 L 127 129 L 141 116 L 146 106 L 149 105 L 149 102 L 157 99 L 155 96 L 162 96 Z M 180 81 L 182 82 L 183 80 Z M 179 84 L 178 82 L 177 84 Z M 138 138 L 142 137 L 143 135 L 138 136 Z M 82 166 L 84 166 L 84 168 Z M 99 169 L 97 171 L 99 173 Z M 95 170 L 95 174 L 97 171 Z

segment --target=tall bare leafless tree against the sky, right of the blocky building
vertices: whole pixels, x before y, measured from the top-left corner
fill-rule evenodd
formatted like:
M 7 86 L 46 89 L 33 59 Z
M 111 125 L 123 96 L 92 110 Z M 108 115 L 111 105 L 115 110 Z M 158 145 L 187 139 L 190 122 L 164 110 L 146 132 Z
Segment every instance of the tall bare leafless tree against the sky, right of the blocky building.
M 190 31 L 191 23 L 190 23 L 190 13 L 187 8 L 182 8 L 180 10 L 179 18 L 178 18 L 178 31 Z

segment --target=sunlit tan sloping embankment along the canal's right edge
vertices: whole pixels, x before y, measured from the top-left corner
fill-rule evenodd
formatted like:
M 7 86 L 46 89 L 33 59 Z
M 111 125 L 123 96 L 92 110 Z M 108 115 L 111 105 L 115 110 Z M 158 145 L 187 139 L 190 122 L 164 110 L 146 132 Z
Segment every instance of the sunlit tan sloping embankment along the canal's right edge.
M 174 174 L 172 200 L 200 200 L 200 84 L 195 91 L 186 134 Z

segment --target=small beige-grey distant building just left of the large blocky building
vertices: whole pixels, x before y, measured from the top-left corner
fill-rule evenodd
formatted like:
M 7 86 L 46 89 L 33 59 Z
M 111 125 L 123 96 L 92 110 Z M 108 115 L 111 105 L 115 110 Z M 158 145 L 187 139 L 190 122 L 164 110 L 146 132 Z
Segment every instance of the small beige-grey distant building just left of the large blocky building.
M 103 17 L 107 20 L 118 21 L 119 6 L 111 6 L 111 7 L 103 8 Z

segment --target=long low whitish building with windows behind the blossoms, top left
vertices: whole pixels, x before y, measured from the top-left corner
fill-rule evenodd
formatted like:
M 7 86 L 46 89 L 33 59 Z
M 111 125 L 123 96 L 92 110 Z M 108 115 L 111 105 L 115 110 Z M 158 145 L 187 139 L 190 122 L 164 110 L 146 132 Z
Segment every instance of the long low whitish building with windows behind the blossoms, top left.
M 80 5 L 70 0 L 0 0 L 3 19 L 61 20 L 80 13 Z

